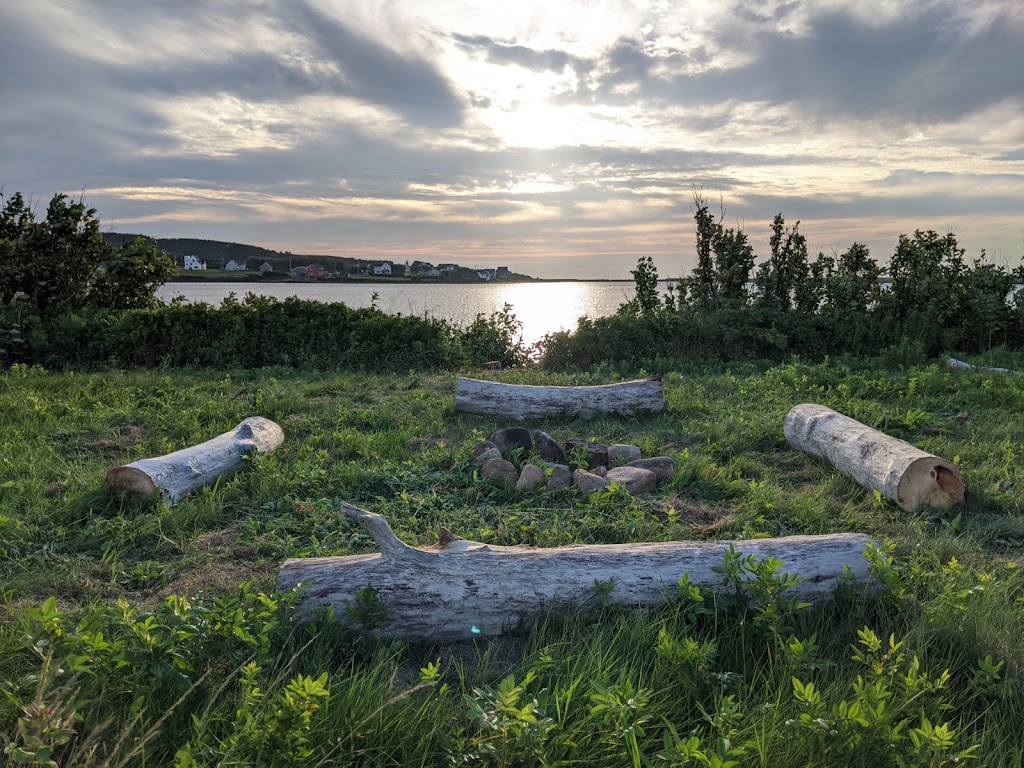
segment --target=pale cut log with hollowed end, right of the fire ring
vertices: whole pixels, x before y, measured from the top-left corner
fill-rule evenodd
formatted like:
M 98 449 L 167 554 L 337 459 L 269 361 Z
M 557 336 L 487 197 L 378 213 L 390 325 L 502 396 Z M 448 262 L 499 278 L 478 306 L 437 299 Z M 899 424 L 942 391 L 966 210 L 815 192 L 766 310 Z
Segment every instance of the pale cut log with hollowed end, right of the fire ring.
M 830 408 L 795 406 L 783 431 L 798 451 L 825 459 L 908 512 L 922 504 L 946 509 L 964 501 L 964 475 L 955 466 Z

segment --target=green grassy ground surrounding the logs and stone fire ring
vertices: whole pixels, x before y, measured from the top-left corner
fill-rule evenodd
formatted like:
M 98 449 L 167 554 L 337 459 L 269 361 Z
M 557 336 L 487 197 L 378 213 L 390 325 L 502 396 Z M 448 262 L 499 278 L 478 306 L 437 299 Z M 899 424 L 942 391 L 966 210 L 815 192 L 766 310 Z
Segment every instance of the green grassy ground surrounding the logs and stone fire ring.
M 656 498 L 590 502 L 477 482 L 471 445 L 508 425 L 455 413 L 455 381 L 0 374 L 7 760 L 1022 765 L 1024 378 L 939 364 L 681 370 L 662 415 L 526 424 L 678 461 Z M 954 461 L 966 503 L 907 513 L 792 451 L 782 420 L 806 401 Z M 252 415 L 280 423 L 284 445 L 175 507 L 100 490 L 112 466 Z M 885 589 L 803 607 L 777 570 L 748 563 L 739 596 L 684 584 L 656 613 L 596 600 L 596 615 L 542 616 L 499 641 L 386 643 L 358 631 L 364 614 L 298 624 L 294 596 L 273 593 L 286 557 L 373 551 L 339 499 L 413 545 L 438 526 L 542 547 L 865 531 L 884 545 Z M 735 586 L 741 567 L 723 579 Z

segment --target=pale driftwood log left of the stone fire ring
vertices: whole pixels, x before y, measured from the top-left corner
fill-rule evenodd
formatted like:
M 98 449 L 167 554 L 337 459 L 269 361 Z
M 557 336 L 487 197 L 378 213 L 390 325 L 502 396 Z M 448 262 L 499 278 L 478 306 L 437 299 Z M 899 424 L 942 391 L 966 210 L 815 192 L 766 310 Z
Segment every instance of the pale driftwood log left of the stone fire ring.
M 155 459 L 141 459 L 106 473 L 105 485 L 139 496 L 156 492 L 175 504 L 225 472 L 242 466 L 247 454 L 268 454 L 285 439 L 281 427 L 253 416 L 212 440 Z

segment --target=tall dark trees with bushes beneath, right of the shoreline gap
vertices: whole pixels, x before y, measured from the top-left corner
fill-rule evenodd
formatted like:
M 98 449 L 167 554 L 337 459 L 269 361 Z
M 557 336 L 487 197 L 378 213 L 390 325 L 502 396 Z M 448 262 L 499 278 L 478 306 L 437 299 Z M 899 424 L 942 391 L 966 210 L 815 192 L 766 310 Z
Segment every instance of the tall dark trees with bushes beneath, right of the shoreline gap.
M 888 265 L 862 243 L 811 260 L 800 222 L 781 213 L 771 223 L 769 254 L 757 268 L 746 233 L 724 224 L 694 190 L 696 264 L 658 291 L 653 260 L 632 270 L 634 297 L 616 315 L 584 318 L 554 334 L 543 362 L 587 368 L 596 362 L 669 366 L 681 357 L 802 354 L 872 355 L 887 347 L 921 356 L 943 350 L 1024 346 L 1024 301 L 1008 301 L 1024 282 L 1015 269 L 965 258 L 953 233 L 901 234 Z

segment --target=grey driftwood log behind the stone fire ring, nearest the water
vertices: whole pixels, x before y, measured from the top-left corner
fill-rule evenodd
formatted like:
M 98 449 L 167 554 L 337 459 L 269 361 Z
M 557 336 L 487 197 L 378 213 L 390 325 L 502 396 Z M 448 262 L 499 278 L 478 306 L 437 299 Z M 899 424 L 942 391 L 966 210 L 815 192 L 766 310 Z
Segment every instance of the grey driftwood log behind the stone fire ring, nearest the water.
M 636 416 L 665 410 L 665 389 L 660 376 L 588 387 L 538 387 L 460 377 L 455 410 L 516 421 L 590 419 L 598 414 Z

